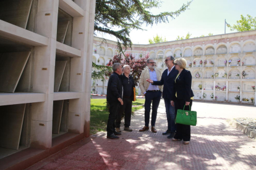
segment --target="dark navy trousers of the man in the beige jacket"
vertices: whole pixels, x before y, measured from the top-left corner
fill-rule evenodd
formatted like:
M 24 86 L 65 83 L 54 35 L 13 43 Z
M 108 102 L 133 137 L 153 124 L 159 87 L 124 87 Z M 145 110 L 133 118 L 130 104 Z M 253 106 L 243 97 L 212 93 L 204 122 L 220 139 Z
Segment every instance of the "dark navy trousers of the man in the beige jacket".
M 145 94 L 145 126 L 148 126 L 150 120 L 150 106 L 152 102 L 151 126 L 155 126 L 158 105 L 160 103 L 162 92 L 147 91 Z

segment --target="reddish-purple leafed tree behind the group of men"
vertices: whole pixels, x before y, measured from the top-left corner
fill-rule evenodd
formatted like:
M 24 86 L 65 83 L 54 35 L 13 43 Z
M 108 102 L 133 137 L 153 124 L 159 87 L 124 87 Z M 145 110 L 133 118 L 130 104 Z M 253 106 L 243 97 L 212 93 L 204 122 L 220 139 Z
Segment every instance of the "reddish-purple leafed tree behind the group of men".
M 126 52 L 123 54 L 114 55 L 112 60 L 109 60 L 107 63 L 108 67 L 111 67 L 114 63 L 121 63 L 122 66 L 129 65 L 131 72 L 130 75 L 134 78 L 135 86 L 139 85 L 140 75 L 142 74 L 142 70 L 147 66 L 147 59 L 149 54 L 145 55 L 145 57 L 139 57 L 139 59 L 135 59 L 135 57 L 130 52 Z M 108 78 L 113 71 L 107 71 L 105 76 Z

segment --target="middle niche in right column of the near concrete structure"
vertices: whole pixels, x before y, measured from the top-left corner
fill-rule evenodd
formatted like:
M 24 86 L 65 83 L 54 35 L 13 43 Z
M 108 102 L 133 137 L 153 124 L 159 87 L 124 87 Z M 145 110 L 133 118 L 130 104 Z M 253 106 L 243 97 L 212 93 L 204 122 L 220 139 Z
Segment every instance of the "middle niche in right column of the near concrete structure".
M 70 57 L 56 55 L 54 73 L 54 92 L 69 92 L 70 62 Z

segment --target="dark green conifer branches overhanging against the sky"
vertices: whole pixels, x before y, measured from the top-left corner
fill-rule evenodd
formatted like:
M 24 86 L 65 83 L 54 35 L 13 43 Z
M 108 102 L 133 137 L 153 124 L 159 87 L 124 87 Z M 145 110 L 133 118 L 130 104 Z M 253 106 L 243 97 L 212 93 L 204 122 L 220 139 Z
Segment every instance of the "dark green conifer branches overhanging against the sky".
M 191 2 L 174 12 L 153 15 L 150 9 L 160 7 L 159 0 L 96 0 L 94 29 L 116 36 L 118 49 L 122 52 L 122 45 L 125 49 L 132 46 L 129 38 L 131 30 L 143 30 L 143 23 L 148 26 L 169 22 L 168 18 L 178 17 Z

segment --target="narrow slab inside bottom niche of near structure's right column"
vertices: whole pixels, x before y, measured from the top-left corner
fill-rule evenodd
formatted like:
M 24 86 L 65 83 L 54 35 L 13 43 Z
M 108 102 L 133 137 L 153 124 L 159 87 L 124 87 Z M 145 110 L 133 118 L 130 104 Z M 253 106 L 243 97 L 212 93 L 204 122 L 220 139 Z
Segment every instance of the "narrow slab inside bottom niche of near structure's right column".
M 53 101 L 53 134 L 59 134 L 64 100 Z

